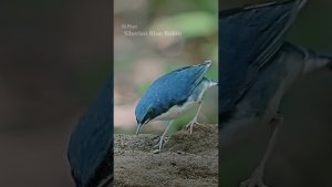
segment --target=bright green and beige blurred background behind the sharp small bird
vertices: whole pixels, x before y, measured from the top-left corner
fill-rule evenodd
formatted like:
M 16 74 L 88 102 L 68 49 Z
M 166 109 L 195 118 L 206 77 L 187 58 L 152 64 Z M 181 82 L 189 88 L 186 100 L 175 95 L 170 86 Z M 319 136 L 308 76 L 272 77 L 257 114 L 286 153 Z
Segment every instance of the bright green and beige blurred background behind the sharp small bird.
M 128 31 L 180 34 L 126 35 Z M 114 52 L 115 133 L 133 134 L 137 101 L 160 75 L 211 60 L 206 76 L 218 80 L 218 1 L 115 0 Z M 217 123 L 217 87 L 206 93 L 198 122 Z M 186 125 L 196 110 L 178 118 L 170 132 Z M 166 125 L 153 122 L 143 133 L 162 132 Z

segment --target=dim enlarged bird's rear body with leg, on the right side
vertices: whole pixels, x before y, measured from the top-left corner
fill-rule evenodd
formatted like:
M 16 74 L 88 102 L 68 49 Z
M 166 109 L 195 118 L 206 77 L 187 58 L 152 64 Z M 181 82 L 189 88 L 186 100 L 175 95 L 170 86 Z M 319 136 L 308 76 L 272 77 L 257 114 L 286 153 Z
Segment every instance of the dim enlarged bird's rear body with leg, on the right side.
M 309 72 L 332 66 L 330 56 L 283 40 L 304 3 L 290 0 L 219 12 L 219 163 L 257 128 L 273 128 L 261 163 L 241 187 L 266 187 L 263 169 L 283 122 L 279 107 L 289 87 Z

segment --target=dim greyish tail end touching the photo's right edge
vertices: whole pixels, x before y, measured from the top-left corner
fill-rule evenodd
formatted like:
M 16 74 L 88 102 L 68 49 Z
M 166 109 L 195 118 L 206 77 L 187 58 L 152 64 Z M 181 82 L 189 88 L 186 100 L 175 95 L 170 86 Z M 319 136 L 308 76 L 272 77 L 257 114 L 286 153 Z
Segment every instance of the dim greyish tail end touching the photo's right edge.
M 332 56 L 305 50 L 303 73 L 305 74 L 322 67 L 329 67 L 332 70 Z

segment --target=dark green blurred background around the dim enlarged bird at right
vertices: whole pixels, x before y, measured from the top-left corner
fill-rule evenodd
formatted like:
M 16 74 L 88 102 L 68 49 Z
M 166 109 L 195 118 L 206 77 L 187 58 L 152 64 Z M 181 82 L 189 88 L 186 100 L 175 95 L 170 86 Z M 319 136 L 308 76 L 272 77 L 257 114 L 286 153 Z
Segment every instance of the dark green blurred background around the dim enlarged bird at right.
M 220 9 L 252 4 L 250 0 L 221 0 Z M 332 55 L 332 1 L 309 0 L 287 40 Z M 332 71 L 321 70 L 300 79 L 281 105 L 284 124 L 268 160 L 269 187 L 330 187 L 332 168 Z M 257 167 L 270 135 L 267 128 L 221 160 L 220 186 L 238 187 Z M 222 153 L 219 153 L 222 154 Z

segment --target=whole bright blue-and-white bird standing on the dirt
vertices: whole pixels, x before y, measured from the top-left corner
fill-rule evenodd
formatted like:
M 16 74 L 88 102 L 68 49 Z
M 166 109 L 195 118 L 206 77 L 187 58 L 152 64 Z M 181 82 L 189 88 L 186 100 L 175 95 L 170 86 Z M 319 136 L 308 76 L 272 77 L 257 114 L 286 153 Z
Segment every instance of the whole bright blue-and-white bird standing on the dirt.
M 207 89 L 217 85 L 217 82 L 204 76 L 210 65 L 211 61 L 205 61 L 203 64 L 185 66 L 157 79 L 146 90 L 136 106 L 136 134 L 139 134 L 142 127 L 148 122 L 169 121 L 157 144 L 159 146 L 158 152 L 160 152 L 167 131 L 174 120 L 199 104 L 194 120 L 187 125 L 191 133 L 203 105 L 204 93 Z

